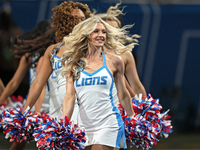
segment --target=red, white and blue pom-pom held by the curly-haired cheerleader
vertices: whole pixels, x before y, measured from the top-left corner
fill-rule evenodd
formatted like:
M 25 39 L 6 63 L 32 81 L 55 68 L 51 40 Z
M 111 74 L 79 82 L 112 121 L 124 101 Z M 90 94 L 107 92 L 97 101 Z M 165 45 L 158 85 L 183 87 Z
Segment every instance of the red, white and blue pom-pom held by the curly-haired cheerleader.
M 10 138 L 10 142 L 30 142 L 34 140 L 33 131 L 40 118 L 32 114 L 29 108 L 22 113 L 22 108 L 9 108 L 2 113 L 2 128 L 5 138 Z

